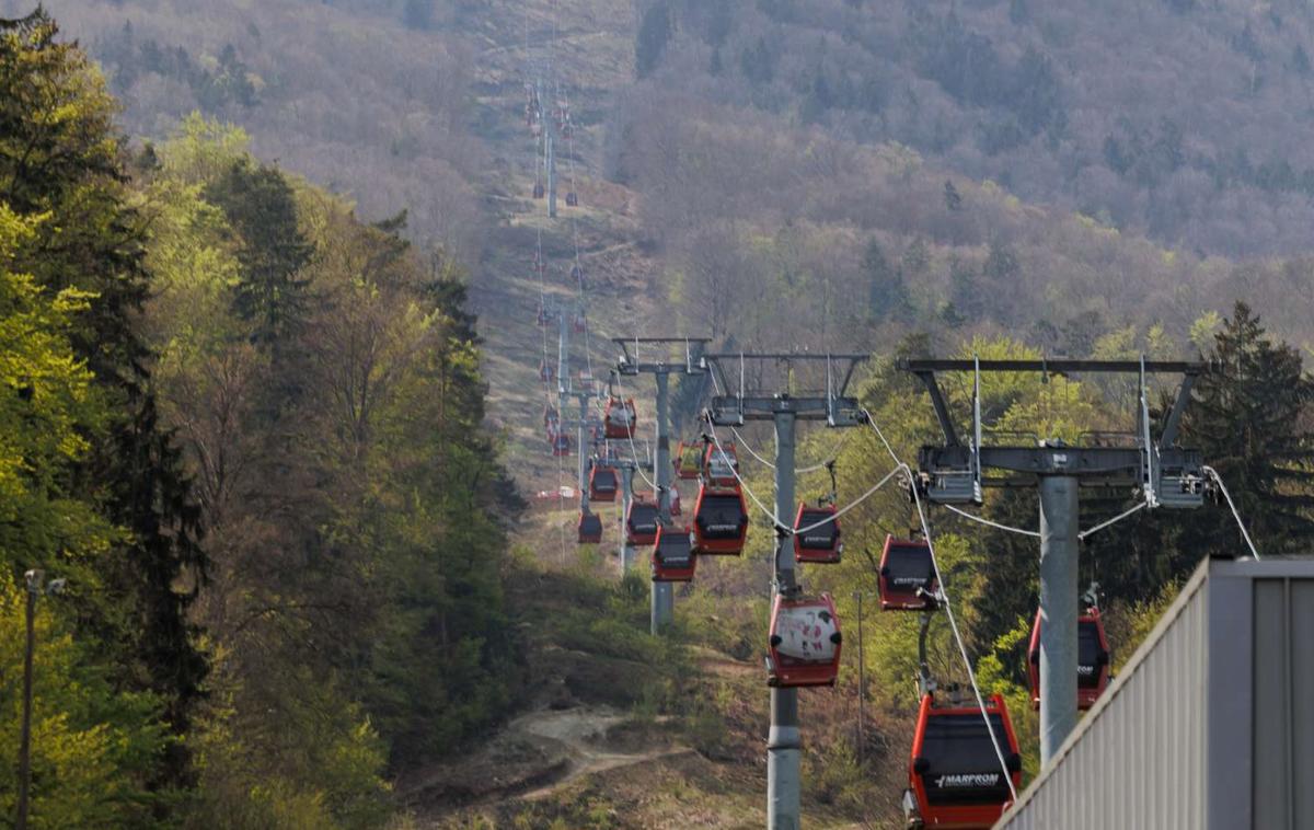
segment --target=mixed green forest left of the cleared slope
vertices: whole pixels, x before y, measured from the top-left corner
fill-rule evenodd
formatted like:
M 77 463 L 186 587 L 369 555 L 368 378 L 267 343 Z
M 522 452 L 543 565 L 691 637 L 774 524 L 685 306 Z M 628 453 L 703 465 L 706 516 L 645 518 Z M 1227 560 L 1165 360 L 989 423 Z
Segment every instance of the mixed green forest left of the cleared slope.
M 17 579 L 67 579 L 32 826 L 378 825 L 390 771 L 520 683 L 461 267 L 240 130 L 129 146 L 43 13 L 4 24 L 0 91 L 11 772 Z

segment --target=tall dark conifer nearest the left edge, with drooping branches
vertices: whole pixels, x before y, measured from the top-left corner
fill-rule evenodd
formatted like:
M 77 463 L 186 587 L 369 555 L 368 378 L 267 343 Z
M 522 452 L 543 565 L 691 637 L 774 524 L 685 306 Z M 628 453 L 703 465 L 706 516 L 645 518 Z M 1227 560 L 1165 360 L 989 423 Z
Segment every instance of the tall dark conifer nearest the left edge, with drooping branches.
M 58 41 L 43 11 L 0 22 L 0 201 L 18 215 L 49 215 L 14 247 L 14 268 L 50 292 L 93 295 L 68 336 L 110 412 L 71 487 L 126 531 L 97 559 L 114 601 L 87 615 L 84 632 L 105 646 L 117 682 L 156 692 L 181 733 L 206 672 L 187 619 L 206 559 L 183 461 L 150 389 L 152 356 L 137 331 L 148 292 L 147 229 L 129 205 L 113 113 L 96 70 Z M 162 785 L 187 779 L 180 745 L 170 754 Z

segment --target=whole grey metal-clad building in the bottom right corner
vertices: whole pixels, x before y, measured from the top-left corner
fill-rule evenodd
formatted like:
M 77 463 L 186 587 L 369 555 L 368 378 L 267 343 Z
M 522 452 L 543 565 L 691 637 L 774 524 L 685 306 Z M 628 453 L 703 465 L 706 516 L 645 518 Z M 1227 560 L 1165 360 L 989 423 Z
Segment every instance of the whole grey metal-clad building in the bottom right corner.
M 1314 827 L 1314 561 L 1202 562 L 996 827 Z

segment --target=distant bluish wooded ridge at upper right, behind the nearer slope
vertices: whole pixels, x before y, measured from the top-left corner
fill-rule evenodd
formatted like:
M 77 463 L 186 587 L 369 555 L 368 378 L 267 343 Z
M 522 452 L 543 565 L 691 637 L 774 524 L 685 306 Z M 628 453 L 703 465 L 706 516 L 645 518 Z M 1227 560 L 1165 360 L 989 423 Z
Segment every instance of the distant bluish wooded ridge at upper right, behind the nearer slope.
M 1231 256 L 1314 219 L 1301 3 L 645 0 L 670 91 L 899 141 L 1025 200 Z M 662 37 L 671 32 L 670 37 Z M 656 33 L 656 34 L 653 34 Z

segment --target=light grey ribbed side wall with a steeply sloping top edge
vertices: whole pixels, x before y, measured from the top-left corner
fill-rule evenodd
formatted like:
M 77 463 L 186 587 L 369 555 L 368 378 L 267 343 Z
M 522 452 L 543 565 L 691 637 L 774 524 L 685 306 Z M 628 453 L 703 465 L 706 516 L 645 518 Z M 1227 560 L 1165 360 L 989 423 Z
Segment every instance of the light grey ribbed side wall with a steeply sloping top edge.
M 1009 830 L 1200 830 L 1206 594 L 1192 579 L 1055 764 L 997 825 Z M 1171 616 L 1169 616 L 1171 615 Z

